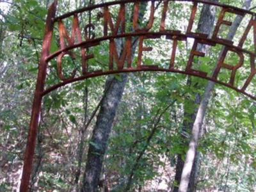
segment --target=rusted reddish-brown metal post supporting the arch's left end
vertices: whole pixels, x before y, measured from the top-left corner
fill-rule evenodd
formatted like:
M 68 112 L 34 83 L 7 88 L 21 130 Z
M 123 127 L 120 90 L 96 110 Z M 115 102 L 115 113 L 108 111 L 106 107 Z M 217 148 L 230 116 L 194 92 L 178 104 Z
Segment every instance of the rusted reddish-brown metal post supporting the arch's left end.
M 40 120 L 42 93 L 44 92 L 44 84 L 46 78 L 47 61 L 51 48 L 52 31 L 54 26 L 54 17 L 56 13 L 57 0 L 51 4 L 45 26 L 45 36 L 42 47 L 41 59 L 38 67 L 38 76 L 36 81 L 36 89 L 33 101 L 33 108 L 31 113 L 31 120 L 29 125 L 28 142 L 26 145 L 26 152 L 24 155 L 24 165 L 22 170 L 22 178 L 20 183 L 20 192 L 27 192 L 29 189 L 29 180 L 33 168 L 33 157 L 35 154 L 36 134 L 38 123 Z

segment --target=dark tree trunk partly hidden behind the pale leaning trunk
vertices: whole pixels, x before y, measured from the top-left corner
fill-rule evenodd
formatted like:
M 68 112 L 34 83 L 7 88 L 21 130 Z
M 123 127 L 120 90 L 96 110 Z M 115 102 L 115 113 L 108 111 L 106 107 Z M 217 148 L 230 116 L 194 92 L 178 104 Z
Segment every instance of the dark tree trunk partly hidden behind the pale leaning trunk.
M 218 2 L 218 0 L 212 0 L 214 2 Z M 200 20 L 198 22 L 198 29 L 196 30 L 198 33 L 205 33 L 207 35 L 210 35 L 213 29 L 213 25 L 214 25 L 214 18 L 215 18 L 215 13 L 216 10 L 214 8 L 214 6 L 209 6 L 207 4 L 204 5 L 204 7 L 202 8 L 202 12 L 200 14 Z M 206 47 L 205 45 L 198 45 L 197 48 L 198 51 L 200 52 L 205 52 L 207 53 L 209 51 L 209 47 Z M 191 82 L 191 78 L 189 77 L 188 82 L 187 82 L 188 86 L 191 86 L 192 82 Z M 198 87 L 196 87 L 195 85 L 193 86 L 193 88 L 198 89 Z M 182 132 L 191 132 L 191 129 L 193 127 L 193 122 L 195 121 L 196 118 L 196 111 L 198 110 L 198 105 L 200 104 L 200 95 L 196 94 L 196 99 L 195 100 L 191 100 L 191 102 L 188 102 L 188 104 L 184 105 L 184 122 L 183 122 L 183 129 Z M 191 106 L 193 105 L 193 106 Z M 188 109 L 189 108 L 195 108 L 195 111 L 193 113 L 189 112 Z M 182 136 L 183 138 L 183 145 L 188 145 L 188 138 L 186 138 L 186 136 Z M 179 189 L 179 183 L 180 183 L 180 179 L 181 179 L 181 174 L 182 174 L 182 169 L 184 166 L 184 161 L 182 159 L 181 154 L 179 154 L 177 156 L 177 164 L 176 164 L 176 172 L 175 172 L 175 184 L 173 187 L 173 192 L 178 191 Z M 192 177 L 191 177 L 191 185 L 190 186 L 194 186 L 195 184 L 195 173 L 196 173 L 196 164 L 193 166 L 193 173 Z M 191 187 L 193 188 L 193 187 Z

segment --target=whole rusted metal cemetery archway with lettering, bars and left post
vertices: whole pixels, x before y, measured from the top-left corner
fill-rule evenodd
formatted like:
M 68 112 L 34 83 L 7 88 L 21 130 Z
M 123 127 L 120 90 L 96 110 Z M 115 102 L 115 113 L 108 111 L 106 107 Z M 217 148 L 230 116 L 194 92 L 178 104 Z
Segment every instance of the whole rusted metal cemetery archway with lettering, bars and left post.
M 140 28 L 138 25 L 138 15 L 140 13 L 140 3 L 141 2 L 151 2 L 150 10 L 150 19 L 148 20 L 147 26 L 144 28 Z M 33 167 L 33 156 L 35 154 L 35 146 L 36 146 L 36 134 L 38 129 L 38 124 L 40 121 L 40 112 L 42 106 L 42 98 L 47 95 L 47 93 L 52 92 L 64 86 L 65 84 L 74 83 L 76 81 L 81 81 L 83 79 L 88 79 L 96 76 L 104 76 L 108 74 L 116 74 L 120 72 L 138 72 L 138 71 L 158 71 L 158 72 L 175 72 L 180 74 L 187 74 L 189 76 L 196 76 L 202 77 L 204 79 L 214 81 L 216 83 L 222 84 L 237 92 L 243 93 L 248 97 L 256 100 L 256 95 L 252 95 L 252 93 L 246 92 L 246 88 L 252 82 L 253 77 L 256 75 L 256 68 L 255 68 L 255 57 L 256 57 L 256 18 L 255 13 L 250 12 L 248 10 L 243 10 L 240 8 L 236 8 L 234 6 L 228 6 L 225 4 L 214 3 L 206 0 L 176 0 L 180 2 L 190 2 L 192 4 L 191 8 L 191 15 L 188 22 L 188 29 L 186 30 L 185 34 L 182 34 L 180 31 L 173 31 L 166 29 L 166 15 L 169 9 L 169 2 L 175 0 L 125 0 L 125 1 L 115 1 L 109 3 L 102 3 L 102 4 L 95 4 L 92 6 L 88 6 L 86 8 L 81 8 L 74 12 L 66 13 L 65 15 L 61 15 L 56 17 L 56 8 L 57 8 L 57 0 L 54 0 L 54 3 L 51 4 L 49 7 L 47 20 L 46 20 L 46 27 L 45 27 L 45 36 L 44 42 L 42 46 L 42 54 L 41 59 L 38 67 L 38 77 L 36 81 L 36 89 L 35 95 L 33 100 L 33 108 L 31 112 L 31 122 L 29 125 L 29 134 L 28 134 L 28 143 L 26 145 L 26 152 L 24 155 L 24 166 L 22 172 L 22 180 L 20 184 L 20 191 L 28 191 L 29 189 L 29 179 L 31 175 L 31 170 Z M 154 23 L 154 13 L 155 13 L 155 3 L 163 3 L 163 10 L 161 12 L 161 22 L 159 23 L 159 31 L 152 31 L 152 25 Z M 129 3 L 134 4 L 134 13 L 133 13 L 133 20 L 132 26 L 134 31 L 125 31 L 125 6 Z M 195 20 L 196 11 L 198 9 L 198 3 L 202 4 L 209 4 L 212 6 L 218 6 L 221 8 L 220 15 L 218 17 L 218 22 L 214 29 L 214 33 L 211 38 L 208 35 L 202 33 L 194 33 L 192 31 L 193 23 Z M 118 13 L 118 18 L 116 19 L 116 23 L 113 23 L 113 19 L 111 16 L 111 12 L 109 11 L 111 6 L 120 6 L 120 10 Z M 91 12 L 92 10 L 100 9 L 103 13 L 99 12 L 99 17 L 103 19 L 103 34 L 102 36 L 97 36 L 95 33 L 91 33 L 91 30 L 95 29 L 93 23 L 86 25 L 84 29 L 85 33 L 85 40 L 83 40 L 83 36 L 81 33 L 81 29 L 79 28 L 79 17 L 77 15 L 83 14 L 84 12 Z M 232 22 L 227 21 L 224 19 L 225 13 L 233 13 L 235 15 L 250 15 L 251 19 L 248 22 L 248 26 L 244 30 L 243 35 L 241 36 L 241 40 L 239 40 L 239 44 L 237 46 L 233 45 L 233 42 L 230 40 L 225 40 L 223 38 L 218 37 L 218 32 L 220 30 L 221 25 L 231 26 Z M 67 29 L 63 24 L 63 20 L 67 19 L 68 17 L 74 17 L 73 25 L 72 25 L 72 36 L 68 35 Z M 60 50 L 50 53 L 51 49 L 51 42 L 52 42 L 52 35 L 54 31 L 54 23 L 58 22 L 58 30 L 60 34 Z M 253 28 L 253 35 L 254 35 L 254 44 L 255 44 L 255 52 L 248 51 L 243 49 L 244 42 L 247 39 L 248 33 Z M 89 35 L 88 31 L 89 29 Z M 143 47 L 143 40 L 147 38 L 157 39 L 165 36 L 166 39 L 173 41 L 172 47 L 172 55 L 170 57 L 170 66 L 168 68 L 159 68 L 156 65 L 143 65 L 142 63 L 142 56 L 143 51 L 151 51 L 152 47 Z M 131 65 L 131 44 L 132 38 L 139 38 L 139 45 L 138 45 L 138 63 L 136 67 Z M 125 54 L 118 57 L 115 45 L 116 38 L 125 38 Z M 187 38 L 193 38 L 194 44 L 190 52 L 189 60 L 186 65 L 186 70 L 179 70 L 175 66 L 175 54 L 177 51 L 177 42 L 179 41 L 186 41 Z M 93 47 L 95 45 L 99 45 L 100 42 L 109 41 L 109 69 L 108 70 L 99 70 L 95 72 L 88 71 L 88 60 L 93 58 L 93 55 L 88 54 L 87 49 Z M 206 72 L 199 71 L 193 69 L 193 59 L 195 56 L 204 57 L 204 52 L 196 51 L 196 47 L 198 44 L 206 44 L 209 46 L 215 46 L 216 44 L 223 45 L 223 53 L 218 60 L 217 67 L 214 69 L 212 76 L 209 76 Z M 72 76 L 65 78 L 62 74 L 62 63 L 61 60 L 63 56 L 69 55 L 73 57 L 72 49 L 79 48 L 81 49 L 81 63 L 82 63 L 82 74 L 81 76 L 76 76 L 76 72 L 72 74 Z M 237 54 L 239 57 L 239 62 L 236 65 L 230 65 L 225 63 L 225 58 L 228 52 L 233 52 Z M 247 54 L 250 57 L 250 74 L 246 79 L 243 86 L 238 88 L 234 84 L 235 76 L 237 70 L 243 66 L 244 64 L 244 54 Z M 61 82 L 58 84 L 54 84 L 48 88 L 45 88 L 45 81 L 47 79 L 47 67 L 48 62 L 57 58 L 57 66 L 58 66 L 58 76 L 61 79 Z M 127 67 L 125 67 L 125 63 Z M 231 71 L 230 81 L 228 83 L 222 82 L 218 80 L 218 74 L 221 68 L 225 68 Z

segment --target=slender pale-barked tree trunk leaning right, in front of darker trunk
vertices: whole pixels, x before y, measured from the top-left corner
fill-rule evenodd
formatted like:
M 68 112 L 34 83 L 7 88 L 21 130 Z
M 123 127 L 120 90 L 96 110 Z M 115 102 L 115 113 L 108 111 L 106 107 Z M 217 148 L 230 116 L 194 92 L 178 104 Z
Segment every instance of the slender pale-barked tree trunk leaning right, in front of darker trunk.
M 251 3 L 252 3 L 252 0 L 245 0 L 244 8 L 249 9 Z M 242 19 L 243 17 L 237 15 L 236 19 L 232 23 L 232 26 L 230 27 L 230 30 L 228 32 L 228 36 L 227 36 L 228 40 L 232 40 L 234 38 L 234 35 L 236 34 L 237 28 L 239 27 L 239 24 L 241 23 Z M 198 140 L 200 137 L 200 132 L 202 131 L 202 125 L 204 122 L 205 113 L 206 113 L 209 101 L 211 99 L 211 93 L 212 93 L 212 90 L 214 89 L 214 85 L 215 83 L 212 81 L 209 81 L 209 83 L 207 84 L 205 88 L 204 96 L 202 97 L 200 106 L 196 113 L 196 119 L 192 129 L 191 141 L 189 142 L 189 150 L 186 154 L 186 161 L 184 163 L 184 167 L 182 170 L 179 192 L 187 192 L 189 189 L 189 179 L 191 178 L 193 164 L 195 163 Z

